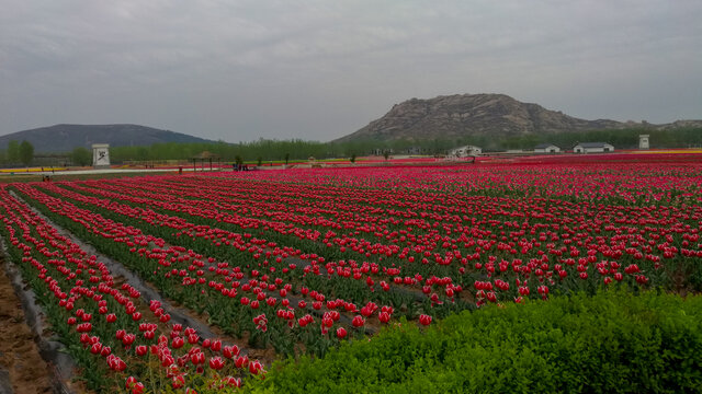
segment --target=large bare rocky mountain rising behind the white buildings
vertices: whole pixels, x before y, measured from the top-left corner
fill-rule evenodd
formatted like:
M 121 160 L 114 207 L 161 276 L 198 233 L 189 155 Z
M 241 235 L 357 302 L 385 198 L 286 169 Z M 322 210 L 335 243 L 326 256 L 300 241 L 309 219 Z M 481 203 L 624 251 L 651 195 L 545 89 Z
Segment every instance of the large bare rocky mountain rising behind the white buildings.
M 698 120 L 687 120 L 687 123 Z M 670 124 L 673 125 L 673 124 Z M 380 119 L 335 142 L 353 140 L 508 138 L 593 129 L 664 127 L 608 119 L 585 120 L 505 94 L 455 94 L 396 104 Z

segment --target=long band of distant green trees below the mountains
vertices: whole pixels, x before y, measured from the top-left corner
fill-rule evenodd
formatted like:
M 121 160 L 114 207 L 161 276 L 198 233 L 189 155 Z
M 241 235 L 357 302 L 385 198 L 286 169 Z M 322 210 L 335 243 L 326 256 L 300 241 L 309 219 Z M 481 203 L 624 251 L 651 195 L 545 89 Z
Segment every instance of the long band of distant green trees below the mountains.
M 503 151 L 507 149 L 532 150 L 539 143 L 554 143 L 562 149 L 570 149 L 577 142 L 609 142 L 616 149 L 635 149 L 638 147 L 638 135 L 650 135 L 650 148 L 689 148 L 702 147 L 702 128 L 680 128 L 670 130 L 655 130 L 648 128 L 632 128 L 621 130 L 590 130 L 568 134 L 545 134 L 495 138 L 491 136 L 476 136 L 452 139 L 427 140 L 364 140 L 342 143 L 293 140 L 264 140 L 252 142 L 226 143 L 155 143 L 148 147 L 114 147 L 110 149 L 111 161 L 159 161 L 159 160 L 191 160 L 203 151 L 210 151 L 223 162 L 233 163 L 236 158 L 241 161 L 258 162 L 275 161 L 306 161 L 307 158 L 350 158 L 352 155 L 367 155 L 373 152 L 392 150 L 394 155 L 421 152 L 423 154 L 443 154 L 449 149 L 473 144 L 483 148 L 484 152 Z M 10 141 L 5 154 L 5 162 L 19 163 L 20 144 Z M 78 161 L 71 153 L 73 162 Z M 84 152 L 81 151 L 80 154 Z M 382 154 L 382 153 L 381 153 Z M 90 158 L 90 155 L 89 155 Z M 81 163 L 84 163 L 81 161 Z M 89 163 L 88 163 L 89 164 Z

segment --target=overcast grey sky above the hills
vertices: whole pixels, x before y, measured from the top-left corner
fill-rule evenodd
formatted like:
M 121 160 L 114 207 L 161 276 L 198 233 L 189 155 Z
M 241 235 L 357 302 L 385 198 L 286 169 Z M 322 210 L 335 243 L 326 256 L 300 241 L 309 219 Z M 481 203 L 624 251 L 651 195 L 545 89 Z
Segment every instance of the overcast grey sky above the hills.
M 502 93 L 702 119 L 699 0 L 0 0 L 0 135 L 138 124 L 329 141 L 394 104 Z

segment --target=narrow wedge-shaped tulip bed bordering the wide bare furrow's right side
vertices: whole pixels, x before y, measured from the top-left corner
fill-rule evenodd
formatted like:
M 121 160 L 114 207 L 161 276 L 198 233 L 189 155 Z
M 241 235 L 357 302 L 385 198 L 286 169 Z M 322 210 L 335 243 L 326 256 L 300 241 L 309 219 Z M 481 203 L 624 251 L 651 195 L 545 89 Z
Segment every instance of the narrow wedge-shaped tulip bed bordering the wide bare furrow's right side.
M 279 277 L 272 278 L 256 269 L 245 277 L 239 266 L 231 264 L 230 268 L 228 262 L 166 245 L 161 239 L 145 236 L 140 230 L 106 220 L 30 185 L 19 185 L 18 189 L 27 199 L 41 202 L 37 207 L 55 221 L 145 276 L 167 297 L 196 312 L 207 312 L 210 321 L 225 333 L 248 336 L 252 345 L 272 343 L 279 352 L 294 354 L 295 346 L 302 341 L 308 351 L 321 355 L 348 334 L 364 334 L 366 318 L 378 310 L 373 302 L 359 309 L 341 299 L 326 300 L 322 293 L 306 287 L 295 291 L 299 297 L 293 297 L 292 286 Z M 128 233 L 132 235 L 125 236 Z M 150 243 L 156 246 L 144 247 Z M 383 306 L 380 312 L 378 322 L 387 323 L 393 309 Z M 278 318 L 268 322 L 267 315 Z M 310 324 L 314 321 L 319 324 L 317 328 Z M 328 334 L 332 326 L 336 335 Z

